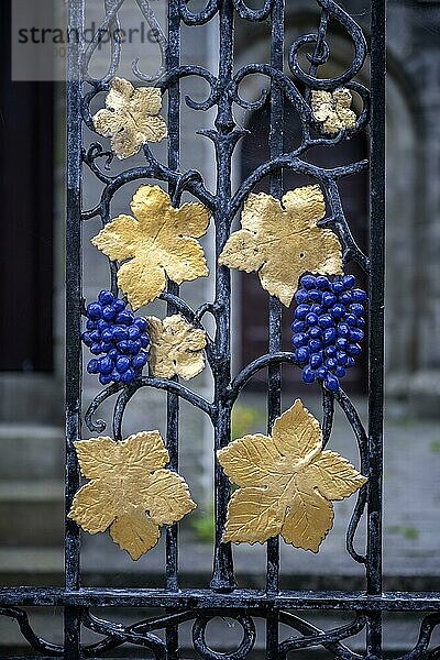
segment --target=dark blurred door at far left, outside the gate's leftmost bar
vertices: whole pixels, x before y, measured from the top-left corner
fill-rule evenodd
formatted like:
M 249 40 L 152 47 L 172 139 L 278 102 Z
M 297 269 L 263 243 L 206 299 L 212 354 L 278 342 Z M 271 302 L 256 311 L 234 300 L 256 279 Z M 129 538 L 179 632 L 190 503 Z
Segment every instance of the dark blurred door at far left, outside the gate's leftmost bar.
M 0 34 L 0 371 L 50 372 L 54 86 L 11 80 L 8 0 Z

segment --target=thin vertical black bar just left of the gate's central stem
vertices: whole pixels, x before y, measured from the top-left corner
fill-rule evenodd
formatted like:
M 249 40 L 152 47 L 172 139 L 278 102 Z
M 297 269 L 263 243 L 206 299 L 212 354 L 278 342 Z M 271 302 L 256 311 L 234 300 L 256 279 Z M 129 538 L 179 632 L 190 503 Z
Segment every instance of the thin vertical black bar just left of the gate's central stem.
M 166 52 L 167 72 L 179 66 L 180 63 L 180 15 L 177 2 L 168 2 L 168 45 Z M 180 89 L 175 82 L 168 90 L 168 167 L 178 169 L 180 165 Z M 169 185 L 168 193 L 173 197 L 175 187 Z M 168 293 L 178 296 L 179 287 L 168 282 Z M 168 316 L 176 314 L 176 308 L 167 304 Z M 167 394 L 167 427 L 166 447 L 169 453 L 169 468 L 178 471 L 178 436 L 179 436 L 179 398 L 176 394 Z M 178 590 L 178 527 L 173 525 L 166 528 L 166 588 Z M 166 629 L 167 658 L 178 658 L 178 626 Z

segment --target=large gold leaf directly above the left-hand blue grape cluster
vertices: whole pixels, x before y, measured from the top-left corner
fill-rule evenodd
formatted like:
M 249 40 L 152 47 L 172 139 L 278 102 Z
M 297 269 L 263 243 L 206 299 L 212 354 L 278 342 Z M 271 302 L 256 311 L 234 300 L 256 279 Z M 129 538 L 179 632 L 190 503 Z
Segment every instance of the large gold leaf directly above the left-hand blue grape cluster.
M 172 207 L 160 186 L 141 186 L 130 204 L 134 216 L 118 216 L 92 240 L 111 261 L 130 260 L 118 271 L 118 284 L 133 309 L 151 302 L 166 287 L 208 275 L 200 243 L 209 211 L 199 202 Z

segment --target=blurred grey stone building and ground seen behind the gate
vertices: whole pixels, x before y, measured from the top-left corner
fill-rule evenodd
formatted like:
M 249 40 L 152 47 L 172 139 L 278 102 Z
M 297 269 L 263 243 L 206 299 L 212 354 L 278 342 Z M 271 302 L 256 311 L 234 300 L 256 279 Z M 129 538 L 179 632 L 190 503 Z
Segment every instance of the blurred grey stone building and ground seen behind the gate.
M 65 53 L 54 48 L 52 76 L 11 79 L 11 31 L 14 0 L 0 2 L 0 193 L 2 200 L 2 310 L 0 318 L 0 585 L 63 584 L 64 534 L 64 268 L 65 268 Z M 48 6 L 47 6 L 48 2 Z M 102 4 L 90 0 L 87 20 L 102 18 Z M 166 1 L 153 3 L 164 25 Z M 250 4 L 252 4 L 250 2 Z M 364 29 L 370 23 L 367 0 L 345 0 L 344 9 Z M 201 3 L 191 2 L 196 10 Z M 63 0 L 45 0 L 50 14 L 65 11 Z M 287 0 L 286 44 L 315 32 L 319 14 L 312 0 Z M 37 18 L 37 16 L 36 16 Z M 124 21 L 142 21 L 133 0 L 121 12 Z M 250 31 L 252 30 L 252 35 Z M 217 24 L 183 29 L 183 63 L 201 64 L 216 70 Z M 330 62 L 323 73 L 336 75 L 351 61 L 352 48 L 337 24 L 330 24 Z M 154 43 L 142 44 L 141 68 L 155 70 L 158 64 Z M 237 68 L 251 62 L 267 62 L 270 28 L 238 20 Z M 92 63 L 97 76 L 108 62 L 103 46 Z M 384 480 L 384 572 L 386 590 L 440 591 L 440 2 L 432 0 L 388 0 L 388 92 L 387 92 L 387 278 L 386 278 L 386 424 Z M 131 59 L 128 64 L 130 64 Z M 46 63 L 47 65 L 47 63 Z M 125 62 L 127 65 L 127 62 Z M 25 76 L 24 76 L 25 78 Z M 359 76 L 369 85 L 369 63 Z M 260 96 L 265 80 L 253 77 L 243 85 L 243 96 Z M 183 92 L 206 98 L 200 81 L 185 81 Z M 102 107 L 97 97 L 92 110 Z M 354 107 L 356 108 L 356 99 Z M 360 108 L 358 108 L 359 110 Z M 164 113 L 166 107 L 164 108 Z M 182 113 L 182 168 L 199 169 L 206 185 L 215 187 L 213 151 L 196 131 L 212 125 L 212 112 Z M 237 110 L 237 120 L 250 130 L 234 160 L 234 185 L 268 157 L 268 108 L 253 113 Z M 96 135 L 86 131 L 86 142 Z M 286 148 L 298 141 L 298 121 L 286 108 Z M 100 142 L 108 147 L 107 140 Z M 165 144 L 154 145 L 160 160 L 166 158 Z M 322 165 L 359 161 L 369 155 L 369 135 L 363 133 L 339 147 L 310 153 Z M 130 166 L 141 164 L 140 156 Z M 116 174 L 127 164 L 112 163 Z M 155 182 L 152 182 L 155 183 Z M 310 183 L 289 175 L 285 187 Z M 112 215 L 128 212 L 138 184 L 124 186 L 114 197 Z M 263 180 L 258 189 L 267 190 Z M 358 175 L 343 180 L 342 200 L 353 234 L 361 248 L 369 242 L 369 180 Z M 101 184 L 84 173 L 84 208 L 99 199 Z M 96 299 L 107 288 L 108 263 L 90 245 L 99 230 L 98 221 L 84 227 L 84 296 Z M 211 271 L 212 234 L 204 243 Z M 353 271 L 355 272 L 355 271 Z M 360 273 L 359 284 L 367 283 Z M 212 278 L 183 286 L 183 296 L 197 306 L 212 297 Z M 267 296 L 255 274 L 233 276 L 233 362 L 234 372 L 266 352 Z M 165 316 L 163 304 L 148 306 L 145 314 Z M 290 345 L 292 310 L 284 310 L 283 340 Z M 85 360 L 88 360 L 85 353 Z M 300 383 L 300 372 L 284 369 L 283 407 L 300 396 L 319 418 L 320 402 L 314 387 Z M 363 419 L 366 418 L 367 354 L 344 381 Z M 204 372 L 191 386 L 211 396 L 212 382 Z M 265 432 L 265 373 L 248 385 L 234 409 L 233 437 Z M 95 377 L 84 382 L 84 407 L 99 392 Z M 111 422 L 111 404 L 99 413 Z M 141 429 L 165 433 L 166 400 L 157 392 L 140 391 L 127 411 L 124 435 Z M 84 429 L 84 437 L 87 436 Z M 183 586 L 207 586 L 212 561 L 212 437 L 200 414 L 182 405 L 180 472 L 190 483 L 199 503 L 197 512 L 182 525 L 180 572 Z M 358 463 L 350 427 L 337 414 L 332 448 Z M 362 566 L 344 549 L 344 532 L 354 499 L 338 503 L 336 525 L 318 556 L 283 546 L 284 588 L 363 590 Z M 365 535 L 361 522 L 356 546 L 362 551 Z M 264 586 L 263 548 L 234 549 L 240 586 Z M 82 580 L 85 585 L 153 586 L 164 582 L 163 541 L 134 563 L 111 542 L 108 535 L 84 538 Z M 53 641 L 62 639 L 62 620 L 54 610 L 31 612 L 35 629 Z M 109 616 L 112 613 L 109 613 Z M 116 620 L 134 613 L 114 613 Z M 332 615 L 333 616 L 333 615 Z M 139 618 L 141 618 L 139 616 Z M 336 622 L 308 617 L 330 627 Z M 386 620 L 389 658 L 411 648 L 417 639 L 417 617 L 393 616 Z M 324 620 L 323 620 L 324 619 Z M 238 631 L 213 627 L 212 645 L 234 647 Z M 96 637 L 87 637 L 94 639 Z M 185 647 L 185 635 L 183 645 Z M 361 639 L 361 638 L 360 638 Z M 235 645 L 237 646 L 237 645 Z M 356 640 L 353 641 L 356 648 Z M 260 647 L 258 647 L 260 648 Z M 26 654 L 16 626 L 0 619 L 0 657 L 4 652 Z M 121 651 L 122 652 L 122 651 Z M 142 656 L 131 649 L 128 657 Z M 139 656 L 136 653 L 140 653 Z M 190 657 L 189 651 L 186 657 Z M 258 651 L 255 651 L 258 658 Z M 299 657 L 299 656 L 298 656 Z M 306 656 L 310 657 L 310 656 Z M 315 656 L 314 656 L 315 657 Z M 317 658 L 322 656 L 317 651 Z

